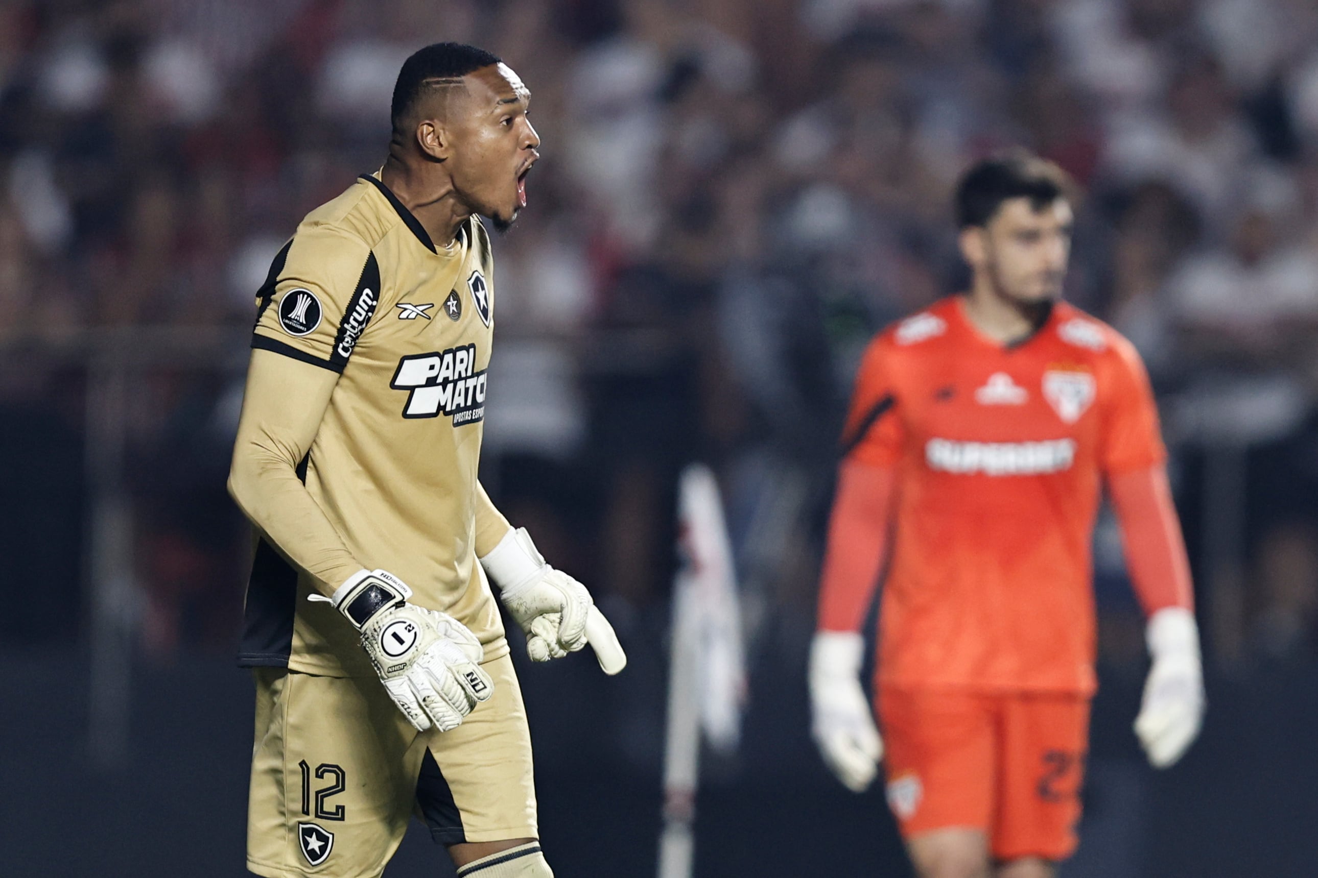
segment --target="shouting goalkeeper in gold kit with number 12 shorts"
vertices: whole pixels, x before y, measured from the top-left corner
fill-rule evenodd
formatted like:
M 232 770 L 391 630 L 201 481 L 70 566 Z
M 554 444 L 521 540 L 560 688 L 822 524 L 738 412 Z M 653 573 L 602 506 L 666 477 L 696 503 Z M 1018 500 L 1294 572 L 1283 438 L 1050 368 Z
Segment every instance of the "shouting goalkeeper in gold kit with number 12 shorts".
M 530 92 L 422 49 L 384 167 L 312 211 L 257 294 L 229 491 L 256 530 L 248 869 L 380 875 L 413 813 L 464 878 L 547 878 L 496 590 L 535 661 L 622 649 L 477 480 L 496 287 L 478 216 L 526 207 Z M 492 588 L 493 586 L 493 588 Z

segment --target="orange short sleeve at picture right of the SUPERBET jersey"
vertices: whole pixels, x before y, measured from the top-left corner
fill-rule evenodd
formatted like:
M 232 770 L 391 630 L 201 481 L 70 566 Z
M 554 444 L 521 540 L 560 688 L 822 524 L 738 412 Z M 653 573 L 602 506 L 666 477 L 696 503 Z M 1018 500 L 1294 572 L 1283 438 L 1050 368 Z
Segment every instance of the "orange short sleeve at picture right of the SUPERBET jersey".
M 1166 449 L 1157 405 L 1144 362 L 1135 346 L 1118 337 L 1106 371 L 1101 463 L 1107 474 L 1162 463 Z

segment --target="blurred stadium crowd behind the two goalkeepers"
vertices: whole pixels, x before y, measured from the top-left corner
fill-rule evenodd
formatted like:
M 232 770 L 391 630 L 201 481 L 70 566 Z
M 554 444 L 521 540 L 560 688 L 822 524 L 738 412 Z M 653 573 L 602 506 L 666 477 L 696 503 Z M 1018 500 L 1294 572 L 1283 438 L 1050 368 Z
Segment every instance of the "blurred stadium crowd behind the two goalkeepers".
M 223 482 L 253 294 L 302 215 L 381 165 L 398 67 L 440 39 L 505 58 L 543 137 L 496 242 L 484 480 L 623 627 L 663 617 L 645 611 L 671 581 L 675 475 L 704 459 L 747 617 L 804 644 L 858 354 L 962 282 L 956 176 L 1023 145 L 1087 192 L 1069 295 L 1148 359 L 1210 649 L 1313 658 L 1311 0 L 5 0 L 14 565 L 71 583 L 84 563 L 98 366 L 69 351 L 214 345 L 210 369 L 130 373 L 124 459 L 144 645 L 231 646 L 248 544 Z M 1132 659 L 1133 600 L 1102 584 L 1115 540 L 1103 642 Z

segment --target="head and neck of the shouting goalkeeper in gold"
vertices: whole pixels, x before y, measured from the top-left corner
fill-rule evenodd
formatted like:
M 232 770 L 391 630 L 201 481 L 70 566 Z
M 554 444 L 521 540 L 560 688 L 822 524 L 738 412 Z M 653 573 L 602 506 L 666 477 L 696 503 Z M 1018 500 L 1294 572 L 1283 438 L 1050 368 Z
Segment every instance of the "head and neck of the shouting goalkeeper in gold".
M 435 43 L 398 74 L 381 178 L 440 245 L 473 213 L 506 230 L 526 207 L 540 138 L 531 92 L 490 53 Z

